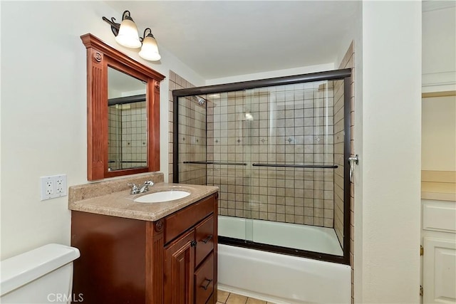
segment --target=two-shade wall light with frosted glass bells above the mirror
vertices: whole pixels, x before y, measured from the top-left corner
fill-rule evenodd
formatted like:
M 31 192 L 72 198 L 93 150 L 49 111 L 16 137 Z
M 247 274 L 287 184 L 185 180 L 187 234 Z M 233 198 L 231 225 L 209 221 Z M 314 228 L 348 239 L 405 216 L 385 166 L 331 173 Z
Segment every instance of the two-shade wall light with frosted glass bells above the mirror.
M 144 30 L 144 36 L 140 37 L 135 21 L 133 21 L 130 16 L 130 11 L 123 12 L 122 23 L 116 23 L 114 17 L 111 17 L 111 20 L 109 20 L 103 16 L 103 20 L 110 24 L 111 31 L 113 31 L 115 36 L 115 41 L 121 46 L 127 48 L 139 48 L 142 46 L 141 51 L 139 52 L 141 58 L 147 61 L 160 60 L 161 56 L 160 53 L 158 53 L 157 41 L 155 41 L 155 37 L 152 35 L 152 30 L 146 28 Z

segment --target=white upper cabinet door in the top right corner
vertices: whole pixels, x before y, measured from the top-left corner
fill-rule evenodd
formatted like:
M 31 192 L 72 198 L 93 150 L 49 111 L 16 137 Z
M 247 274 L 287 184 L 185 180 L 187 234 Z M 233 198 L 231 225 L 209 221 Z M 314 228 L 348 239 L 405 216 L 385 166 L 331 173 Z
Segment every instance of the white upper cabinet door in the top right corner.
M 432 2 L 423 6 L 432 9 L 423 11 L 423 93 L 456 90 L 456 5 Z

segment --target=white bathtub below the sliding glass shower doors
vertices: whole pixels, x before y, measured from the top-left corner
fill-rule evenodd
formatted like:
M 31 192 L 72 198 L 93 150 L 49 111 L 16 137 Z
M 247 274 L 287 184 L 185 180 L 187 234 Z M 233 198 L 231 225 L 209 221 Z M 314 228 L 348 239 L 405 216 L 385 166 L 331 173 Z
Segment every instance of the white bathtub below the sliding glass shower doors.
M 284 235 L 293 229 L 299 237 L 308 238 L 306 242 L 297 238 L 298 246 L 314 241 L 306 250 L 342 253 L 330 240 L 332 229 L 219 216 L 219 236 L 247 237 L 261 243 L 267 243 L 265 238 L 270 236 L 269 243 L 284 246 L 291 243 Z M 333 237 L 338 245 L 336 235 Z M 350 266 L 224 244 L 218 246 L 218 257 L 220 290 L 273 303 L 351 303 Z

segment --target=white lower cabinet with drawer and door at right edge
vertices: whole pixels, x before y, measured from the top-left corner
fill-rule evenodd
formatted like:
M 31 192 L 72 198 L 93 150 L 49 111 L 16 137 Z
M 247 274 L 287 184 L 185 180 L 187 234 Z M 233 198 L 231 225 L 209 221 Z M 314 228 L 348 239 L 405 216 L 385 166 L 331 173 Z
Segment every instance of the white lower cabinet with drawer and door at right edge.
M 423 304 L 456 303 L 456 201 L 422 206 Z

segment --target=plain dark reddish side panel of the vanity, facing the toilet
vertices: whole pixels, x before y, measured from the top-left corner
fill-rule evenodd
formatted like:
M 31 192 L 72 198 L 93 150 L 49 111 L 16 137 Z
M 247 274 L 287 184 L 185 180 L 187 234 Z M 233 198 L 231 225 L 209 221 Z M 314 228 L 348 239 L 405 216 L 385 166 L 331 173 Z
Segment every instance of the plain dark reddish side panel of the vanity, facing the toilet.
M 73 293 L 85 303 L 145 303 L 145 221 L 82 211 L 71 217 L 71 246 L 81 251 Z

